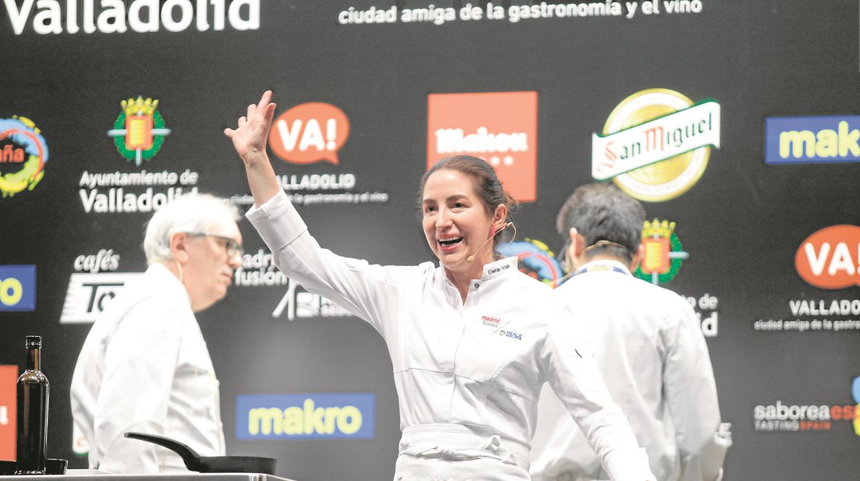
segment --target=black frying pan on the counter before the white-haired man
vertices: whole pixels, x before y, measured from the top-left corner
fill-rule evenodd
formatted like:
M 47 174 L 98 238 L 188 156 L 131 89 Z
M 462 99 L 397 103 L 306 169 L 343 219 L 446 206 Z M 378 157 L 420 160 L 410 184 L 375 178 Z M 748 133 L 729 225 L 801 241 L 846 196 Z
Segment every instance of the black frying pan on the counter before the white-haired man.
M 194 449 L 179 441 L 163 436 L 144 435 L 144 433 L 126 432 L 126 438 L 149 441 L 179 454 L 185 467 L 196 472 L 259 472 L 274 474 L 274 466 L 278 462 L 274 458 L 257 456 L 200 456 Z

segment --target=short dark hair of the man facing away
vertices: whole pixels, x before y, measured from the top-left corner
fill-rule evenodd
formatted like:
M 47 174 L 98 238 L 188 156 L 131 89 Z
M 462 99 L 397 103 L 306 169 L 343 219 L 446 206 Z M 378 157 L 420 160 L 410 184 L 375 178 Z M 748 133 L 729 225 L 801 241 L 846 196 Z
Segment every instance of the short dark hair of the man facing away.
M 561 254 L 564 256 L 567 251 L 568 232 L 575 228 L 585 238 L 586 246 L 604 240 L 625 248 L 611 244 L 596 246 L 586 258 L 603 252 L 630 262 L 642 243 L 644 222 L 645 208 L 638 200 L 610 183 L 586 184 L 574 190 L 558 211 L 556 230 L 565 239 Z

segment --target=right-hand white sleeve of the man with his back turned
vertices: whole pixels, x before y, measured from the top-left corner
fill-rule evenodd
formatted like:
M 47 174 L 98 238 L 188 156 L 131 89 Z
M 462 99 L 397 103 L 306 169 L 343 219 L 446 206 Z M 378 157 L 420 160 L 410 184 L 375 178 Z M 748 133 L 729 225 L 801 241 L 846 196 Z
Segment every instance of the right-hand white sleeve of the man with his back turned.
M 675 426 L 683 481 L 719 478 L 728 444 L 716 435 L 720 405 L 708 345 L 690 305 L 679 303 L 661 332 L 667 348 L 663 392 Z

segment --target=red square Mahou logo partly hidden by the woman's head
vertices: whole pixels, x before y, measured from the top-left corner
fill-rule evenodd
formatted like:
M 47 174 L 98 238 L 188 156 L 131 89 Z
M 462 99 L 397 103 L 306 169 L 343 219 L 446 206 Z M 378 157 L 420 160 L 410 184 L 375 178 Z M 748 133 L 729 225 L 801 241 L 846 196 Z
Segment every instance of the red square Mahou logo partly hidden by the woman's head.
M 481 157 L 520 202 L 537 200 L 537 92 L 427 96 L 427 169 L 444 157 Z

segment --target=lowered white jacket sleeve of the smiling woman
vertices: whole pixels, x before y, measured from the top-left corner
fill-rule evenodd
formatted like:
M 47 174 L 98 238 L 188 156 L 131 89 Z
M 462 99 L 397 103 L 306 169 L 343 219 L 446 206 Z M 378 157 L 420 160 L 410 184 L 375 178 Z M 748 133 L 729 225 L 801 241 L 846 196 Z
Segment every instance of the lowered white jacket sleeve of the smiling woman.
M 560 315 L 570 316 L 565 307 Z M 612 401 L 587 342 L 571 319 L 550 324 L 542 359 L 547 380 L 613 481 L 656 481 L 648 454 L 636 441 L 621 408 Z

